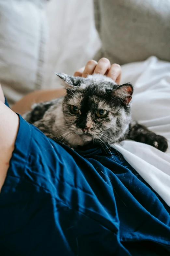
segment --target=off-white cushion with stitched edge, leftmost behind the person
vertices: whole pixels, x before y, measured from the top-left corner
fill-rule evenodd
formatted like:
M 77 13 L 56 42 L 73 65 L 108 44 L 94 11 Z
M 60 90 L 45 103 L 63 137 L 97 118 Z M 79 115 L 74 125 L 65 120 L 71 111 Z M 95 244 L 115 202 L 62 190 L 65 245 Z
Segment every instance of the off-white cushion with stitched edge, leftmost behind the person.
M 0 0 L 0 82 L 10 104 L 42 86 L 45 2 Z

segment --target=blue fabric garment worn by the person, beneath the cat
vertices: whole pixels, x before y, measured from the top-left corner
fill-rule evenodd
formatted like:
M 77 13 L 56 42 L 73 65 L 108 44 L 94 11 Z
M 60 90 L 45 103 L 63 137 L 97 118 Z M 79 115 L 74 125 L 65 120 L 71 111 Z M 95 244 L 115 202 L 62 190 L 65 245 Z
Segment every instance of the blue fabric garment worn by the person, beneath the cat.
M 0 194 L 0 255 L 170 255 L 170 208 L 110 150 L 72 150 L 20 116 Z

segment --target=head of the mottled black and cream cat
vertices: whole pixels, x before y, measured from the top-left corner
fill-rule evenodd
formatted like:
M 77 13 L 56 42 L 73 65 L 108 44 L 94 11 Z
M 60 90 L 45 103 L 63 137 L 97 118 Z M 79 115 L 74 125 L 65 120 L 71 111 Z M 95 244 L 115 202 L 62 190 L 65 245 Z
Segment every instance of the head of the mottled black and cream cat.
M 133 86 L 117 85 L 101 74 L 87 78 L 56 74 L 66 88 L 63 112 L 69 129 L 84 143 L 119 141 L 131 121 Z

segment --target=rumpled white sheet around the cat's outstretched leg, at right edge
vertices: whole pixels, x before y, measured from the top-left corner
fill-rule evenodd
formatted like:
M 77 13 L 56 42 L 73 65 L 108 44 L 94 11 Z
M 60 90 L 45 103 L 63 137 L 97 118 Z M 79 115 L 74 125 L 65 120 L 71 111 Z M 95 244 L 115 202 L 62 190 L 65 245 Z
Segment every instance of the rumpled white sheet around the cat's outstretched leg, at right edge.
M 133 120 L 166 137 L 170 143 L 170 62 L 150 57 L 122 66 L 121 83 L 132 82 Z M 113 145 L 170 206 L 170 148 L 166 153 L 146 144 Z

